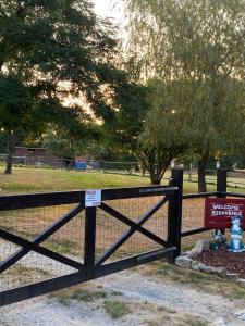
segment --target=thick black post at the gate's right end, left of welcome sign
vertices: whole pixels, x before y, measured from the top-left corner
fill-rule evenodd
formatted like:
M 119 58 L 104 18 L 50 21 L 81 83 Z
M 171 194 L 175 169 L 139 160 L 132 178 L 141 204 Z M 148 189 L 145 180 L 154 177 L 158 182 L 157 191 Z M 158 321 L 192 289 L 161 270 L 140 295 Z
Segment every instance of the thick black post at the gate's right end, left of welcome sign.
M 176 248 L 169 262 L 174 263 L 175 258 L 181 254 L 183 170 L 172 170 L 171 186 L 177 187 L 170 197 L 168 212 L 168 243 Z

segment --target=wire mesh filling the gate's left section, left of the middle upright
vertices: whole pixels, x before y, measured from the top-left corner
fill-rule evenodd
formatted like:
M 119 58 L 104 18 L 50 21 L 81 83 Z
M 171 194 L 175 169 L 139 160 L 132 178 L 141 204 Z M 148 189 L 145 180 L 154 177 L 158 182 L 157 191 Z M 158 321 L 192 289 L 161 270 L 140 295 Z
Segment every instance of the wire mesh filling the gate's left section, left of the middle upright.
M 4 211 L 0 213 L 0 228 L 22 239 L 33 241 L 35 237 L 50 227 L 62 215 L 73 209 L 73 206 L 71 204 L 63 204 Z M 83 261 L 83 215 L 84 213 L 81 213 L 72 218 L 68 224 L 42 241 L 40 246 L 72 260 Z M 2 262 L 8 260 L 20 249 L 22 247 L 17 244 L 0 240 L 0 260 Z M 0 290 L 66 275 L 75 271 L 75 268 L 32 251 L 1 274 Z

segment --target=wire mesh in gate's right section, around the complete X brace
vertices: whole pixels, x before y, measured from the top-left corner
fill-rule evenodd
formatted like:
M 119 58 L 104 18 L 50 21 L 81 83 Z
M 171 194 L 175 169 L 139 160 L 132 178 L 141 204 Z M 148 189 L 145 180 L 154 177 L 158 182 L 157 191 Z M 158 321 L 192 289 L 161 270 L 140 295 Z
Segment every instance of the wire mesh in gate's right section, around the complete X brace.
M 106 202 L 131 221 L 137 221 L 155 206 L 162 196 L 152 196 L 146 198 L 133 198 L 123 200 L 112 200 Z M 146 223 L 144 228 L 157 235 L 159 238 L 167 238 L 168 230 L 168 208 L 160 208 Z M 96 255 L 97 258 L 109 249 L 113 243 L 123 237 L 131 227 L 115 217 L 111 216 L 102 210 L 97 211 L 97 241 Z M 146 251 L 151 251 L 161 248 L 161 244 L 149 239 L 138 230 L 135 231 L 119 249 L 110 256 L 110 261 L 127 258 L 139 254 Z

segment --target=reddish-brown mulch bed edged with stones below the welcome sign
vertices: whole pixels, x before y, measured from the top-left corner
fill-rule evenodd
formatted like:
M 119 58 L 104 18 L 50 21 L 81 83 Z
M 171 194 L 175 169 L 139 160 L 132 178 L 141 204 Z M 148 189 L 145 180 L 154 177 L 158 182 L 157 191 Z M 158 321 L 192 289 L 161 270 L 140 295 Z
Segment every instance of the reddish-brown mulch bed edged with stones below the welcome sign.
M 229 273 L 245 278 L 245 252 L 229 252 L 226 248 L 209 249 L 199 253 L 196 260 L 207 266 L 225 267 Z

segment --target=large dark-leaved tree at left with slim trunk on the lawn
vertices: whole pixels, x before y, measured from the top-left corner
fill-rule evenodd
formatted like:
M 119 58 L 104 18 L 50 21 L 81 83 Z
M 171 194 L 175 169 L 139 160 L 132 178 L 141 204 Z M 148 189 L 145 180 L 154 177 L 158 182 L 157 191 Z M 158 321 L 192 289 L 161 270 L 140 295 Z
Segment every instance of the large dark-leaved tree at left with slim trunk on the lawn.
M 110 60 L 117 45 L 108 21 L 89 0 L 0 0 L 0 127 L 12 170 L 17 134 L 41 134 L 48 124 L 83 134 L 81 114 L 110 120 L 108 101 L 124 74 Z M 76 108 L 64 100 L 82 98 Z M 74 129 L 75 126 L 75 129 Z

